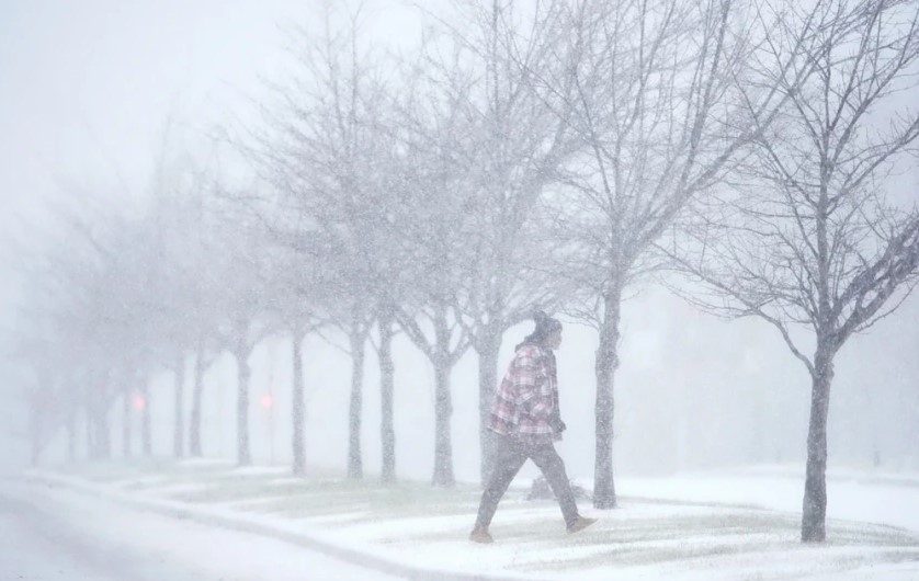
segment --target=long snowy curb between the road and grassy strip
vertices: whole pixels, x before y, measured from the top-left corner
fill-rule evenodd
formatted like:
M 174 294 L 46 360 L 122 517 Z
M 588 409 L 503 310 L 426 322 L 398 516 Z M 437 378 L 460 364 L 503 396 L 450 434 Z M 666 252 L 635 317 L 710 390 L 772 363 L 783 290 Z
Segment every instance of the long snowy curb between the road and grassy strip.
M 82 494 L 101 498 L 113 503 L 171 516 L 173 519 L 186 519 L 204 525 L 219 526 L 230 531 L 272 537 L 292 545 L 297 545 L 306 549 L 321 552 L 322 555 L 337 558 L 351 565 L 356 565 L 365 569 L 405 579 L 436 579 L 443 581 L 535 581 L 540 579 L 513 573 L 489 574 L 483 572 L 464 572 L 456 570 L 447 571 L 423 568 L 400 562 L 383 555 L 360 550 L 333 540 L 319 538 L 306 532 L 295 533 L 292 531 L 284 531 L 283 528 L 279 528 L 270 524 L 260 523 L 254 519 L 247 519 L 243 515 L 228 516 L 226 514 L 208 511 L 206 508 L 195 506 L 186 502 L 137 498 L 117 489 L 87 483 L 81 480 L 41 470 L 26 471 L 24 478 L 26 480 L 31 479 L 41 481 L 50 488 L 56 486 L 61 487 Z

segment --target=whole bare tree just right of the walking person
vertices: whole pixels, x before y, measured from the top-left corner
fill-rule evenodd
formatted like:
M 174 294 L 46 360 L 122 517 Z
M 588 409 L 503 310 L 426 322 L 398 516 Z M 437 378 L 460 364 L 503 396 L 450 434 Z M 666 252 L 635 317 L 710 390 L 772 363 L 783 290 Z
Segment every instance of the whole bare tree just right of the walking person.
M 657 266 L 655 240 L 774 119 L 780 87 L 807 73 L 802 55 L 835 18 L 825 4 L 779 14 L 765 3 L 717 0 L 571 7 L 566 66 L 549 69 L 564 77 L 543 82 L 574 86 L 570 126 L 583 153 L 558 172 L 544 210 L 560 272 L 581 288 L 570 310 L 599 331 L 597 508 L 616 504 L 613 379 L 626 289 Z

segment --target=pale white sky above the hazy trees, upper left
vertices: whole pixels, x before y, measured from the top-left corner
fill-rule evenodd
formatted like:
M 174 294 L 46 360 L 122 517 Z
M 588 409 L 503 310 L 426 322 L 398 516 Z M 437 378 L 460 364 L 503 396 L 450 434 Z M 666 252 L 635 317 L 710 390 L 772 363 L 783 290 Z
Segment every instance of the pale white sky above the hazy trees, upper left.
M 283 26 L 315 24 L 318 5 L 0 0 L 0 305 L 15 294 L 11 238 L 31 239 L 46 208 L 77 192 L 143 194 L 166 118 L 191 138 L 227 122 L 260 77 L 283 68 Z M 417 37 L 418 19 L 400 0 L 367 10 L 381 41 Z

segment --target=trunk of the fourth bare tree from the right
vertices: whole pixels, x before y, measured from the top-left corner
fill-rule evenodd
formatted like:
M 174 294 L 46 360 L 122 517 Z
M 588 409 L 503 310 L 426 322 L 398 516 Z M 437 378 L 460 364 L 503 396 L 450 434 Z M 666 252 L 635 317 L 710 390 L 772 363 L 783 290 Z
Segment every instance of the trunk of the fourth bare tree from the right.
M 438 487 L 452 487 L 456 483 L 453 476 L 453 444 L 450 418 L 453 402 L 450 395 L 450 331 L 446 317 L 440 316 L 434 321 L 436 344 L 434 345 L 434 476 L 431 483 Z

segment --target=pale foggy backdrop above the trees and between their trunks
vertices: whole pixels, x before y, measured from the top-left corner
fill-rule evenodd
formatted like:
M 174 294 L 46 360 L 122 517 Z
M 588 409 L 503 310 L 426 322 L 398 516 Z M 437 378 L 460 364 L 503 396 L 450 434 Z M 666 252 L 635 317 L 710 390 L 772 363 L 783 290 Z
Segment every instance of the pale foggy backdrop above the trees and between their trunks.
M 375 15 L 367 25 L 389 46 L 404 46 L 419 33 L 417 15 L 402 3 L 381 0 L 371 5 Z M 79 206 L 82 192 L 112 204 L 137 203 L 149 191 L 166 119 L 173 119 L 172 139 L 190 150 L 206 148 L 213 126 L 246 115 L 247 104 L 263 90 L 261 79 L 284 70 L 284 26 L 309 26 L 314 14 L 309 2 L 280 0 L 0 4 L 4 331 L 14 332 L 18 324 L 22 250 L 42 243 L 55 208 Z M 919 169 L 914 164 L 898 184 L 906 195 L 916 195 Z M 830 466 L 919 468 L 917 322 L 919 297 L 914 295 L 869 334 L 853 338 L 837 357 Z M 531 326 L 504 334 L 499 374 Z M 625 304 L 622 331 L 615 388 L 619 474 L 762 463 L 792 463 L 803 469 L 810 378 L 772 328 L 758 320 L 725 321 L 663 288 L 647 286 Z M 559 452 L 569 474 L 581 479 L 593 469 L 595 343 L 592 330 L 566 324 L 557 353 L 561 414 L 568 424 Z M 271 462 L 272 455 L 279 464 L 290 458 L 290 349 L 286 340 L 269 339 L 251 358 L 256 463 Z M 342 470 L 349 360 L 315 337 L 307 339 L 304 351 L 307 471 Z M 394 358 L 397 475 L 427 479 L 433 463 L 433 372 L 402 335 L 396 339 Z M 3 357 L 0 365 L 0 454 L 2 465 L 14 468 L 29 456 L 24 388 L 14 364 Z M 373 474 L 381 453 L 378 367 L 372 350 L 365 371 L 363 452 L 365 468 Z M 151 384 L 155 455 L 171 451 L 171 390 L 170 373 Z M 474 352 L 455 367 L 452 391 L 456 475 L 475 480 Z M 261 406 L 268 392 L 275 398 L 273 420 Z M 191 398 L 191 389 L 185 394 Z M 205 376 L 205 457 L 235 457 L 234 401 L 232 364 L 224 355 Z M 121 449 L 120 413 L 111 412 L 115 451 Z M 60 443 L 52 446 L 44 460 L 63 460 L 63 451 Z M 527 470 L 534 474 L 532 467 Z

